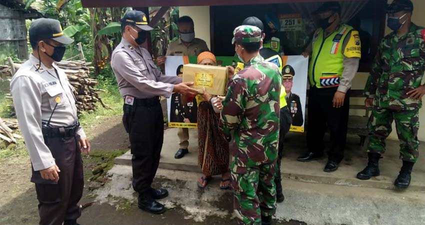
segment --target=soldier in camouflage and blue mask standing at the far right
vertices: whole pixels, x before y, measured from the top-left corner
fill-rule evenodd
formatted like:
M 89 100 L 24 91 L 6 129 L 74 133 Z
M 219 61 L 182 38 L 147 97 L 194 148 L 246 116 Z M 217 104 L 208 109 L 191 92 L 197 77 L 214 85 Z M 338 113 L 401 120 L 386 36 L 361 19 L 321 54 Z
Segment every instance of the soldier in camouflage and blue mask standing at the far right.
M 369 119 L 367 166 L 359 179 L 379 175 L 378 160 L 385 151 L 385 138 L 395 120 L 403 165 L 394 185 L 406 188 L 418 157 L 418 111 L 425 86 L 425 29 L 411 22 L 410 0 L 394 0 L 388 7 L 388 26 L 394 32 L 381 41 L 365 87 L 366 106 L 373 105 Z

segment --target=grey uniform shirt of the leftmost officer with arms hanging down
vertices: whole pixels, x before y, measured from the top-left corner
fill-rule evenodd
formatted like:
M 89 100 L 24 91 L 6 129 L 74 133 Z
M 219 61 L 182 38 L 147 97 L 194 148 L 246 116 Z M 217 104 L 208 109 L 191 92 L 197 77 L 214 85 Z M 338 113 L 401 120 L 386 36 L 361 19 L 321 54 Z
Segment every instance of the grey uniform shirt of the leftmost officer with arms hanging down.
M 47 68 L 43 64 L 36 70 L 38 62 L 31 54 L 10 81 L 16 117 L 35 171 L 55 164 L 44 143 L 41 121 L 48 121 L 51 115 L 50 126 L 62 127 L 78 120 L 75 98 L 64 71 L 55 65 Z M 51 114 L 56 101 L 60 102 Z M 85 137 L 82 127 L 78 128 L 77 134 L 80 138 Z

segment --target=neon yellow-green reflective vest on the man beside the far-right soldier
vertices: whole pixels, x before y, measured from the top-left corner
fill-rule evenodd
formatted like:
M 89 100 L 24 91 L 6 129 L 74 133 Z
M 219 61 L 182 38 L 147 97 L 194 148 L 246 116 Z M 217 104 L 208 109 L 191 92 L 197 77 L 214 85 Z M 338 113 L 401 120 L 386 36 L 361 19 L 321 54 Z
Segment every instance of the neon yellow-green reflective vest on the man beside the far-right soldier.
M 311 86 L 322 88 L 339 85 L 339 79 L 344 69 L 342 63 L 344 59 L 344 49 L 342 49 L 342 45 L 345 37 L 352 29 L 353 28 L 349 25 L 341 24 L 338 29 L 326 38 L 324 38 L 322 28 L 316 30 L 312 39 L 313 52 L 308 66 L 308 78 Z M 358 37 L 357 31 L 352 31 L 351 36 L 355 33 Z M 355 44 L 357 44 L 357 42 Z M 358 47 L 360 48 L 359 44 L 360 42 L 358 39 Z M 348 48 L 348 44 L 346 48 Z M 358 55 L 353 54 L 350 56 L 360 57 L 359 52 L 360 51 L 358 51 Z

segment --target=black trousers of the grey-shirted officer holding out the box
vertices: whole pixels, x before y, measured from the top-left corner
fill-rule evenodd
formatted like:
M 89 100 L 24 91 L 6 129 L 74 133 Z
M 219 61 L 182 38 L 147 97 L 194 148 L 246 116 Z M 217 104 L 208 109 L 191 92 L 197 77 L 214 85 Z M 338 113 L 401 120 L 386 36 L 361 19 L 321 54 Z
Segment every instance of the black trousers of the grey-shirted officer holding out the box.
M 159 165 L 164 138 L 164 119 L 159 99 L 123 105 L 122 123 L 131 145 L 132 185 L 138 193 L 150 190 Z M 136 105 L 139 103 L 138 105 Z

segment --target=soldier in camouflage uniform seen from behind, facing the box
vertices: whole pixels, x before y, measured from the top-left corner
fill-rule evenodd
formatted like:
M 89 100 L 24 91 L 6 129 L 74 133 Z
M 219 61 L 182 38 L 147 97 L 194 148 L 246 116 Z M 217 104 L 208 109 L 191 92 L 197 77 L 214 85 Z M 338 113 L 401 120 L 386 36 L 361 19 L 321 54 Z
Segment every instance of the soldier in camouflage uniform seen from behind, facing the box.
M 244 69 L 229 81 L 222 101 L 222 129 L 234 137 L 231 163 L 234 211 L 238 224 L 271 224 L 276 209 L 277 144 L 279 139 L 278 67 L 258 54 L 261 30 L 241 25 L 232 43 Z

